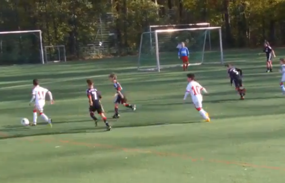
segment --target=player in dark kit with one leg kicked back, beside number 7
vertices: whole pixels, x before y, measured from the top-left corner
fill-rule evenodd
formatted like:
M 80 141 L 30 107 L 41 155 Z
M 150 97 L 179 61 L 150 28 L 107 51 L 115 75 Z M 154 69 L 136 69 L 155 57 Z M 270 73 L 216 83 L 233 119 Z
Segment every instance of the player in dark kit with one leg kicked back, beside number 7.
M 132 105 L 132 104 L 128 104 L 127 103 L 127 98 L 126 96 L 123 94 L 123 88 L 122 86 L 119 84 L 119 82 L 117 81 L 117 76 L 112 73 L 109 75 L 109 80 L 113 83 L 114 88 L 116 89 L 116 94 L 115 94 L 115 114 L 113 115 L 114 119 L 117 119 L 120 117 L 119 115 L 119 104 L 123 104 L 125 107 L 127 108 L 131 108 L 133 110 L 136 110 L 136 105 Z

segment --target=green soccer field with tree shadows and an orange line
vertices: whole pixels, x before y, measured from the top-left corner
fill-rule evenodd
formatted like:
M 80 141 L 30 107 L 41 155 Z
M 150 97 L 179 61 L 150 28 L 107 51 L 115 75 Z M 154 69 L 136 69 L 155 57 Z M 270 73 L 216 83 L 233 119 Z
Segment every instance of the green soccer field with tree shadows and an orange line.
M 0 183 L 284 183 L 279 61 L 274 60 L 274 73 L 265 73 L 265 56 L 258 51 L 225 52 L 226 62 L 236 60 L 243 69 L 244 101 L 225 67 L 189 68 L 209 92 L 204 108 L 211 123 L 201 120 L 190 96 L 183 103 L 182 68 L 137 72 L 135 57 L 0 68 Z M 137 104 L 136 111 L 120 106 L 117 121 L 111 119 L 111 72 Z M 53 93 L 55 104 L 45 106 L 53 128 L 40 117 L 36 127 L 20 125 L 22 117 L 32 121 L 34 78 Z M 90 120 L 88 78 L 102 92 L 111 132 L 103 121 L 95 127 Z

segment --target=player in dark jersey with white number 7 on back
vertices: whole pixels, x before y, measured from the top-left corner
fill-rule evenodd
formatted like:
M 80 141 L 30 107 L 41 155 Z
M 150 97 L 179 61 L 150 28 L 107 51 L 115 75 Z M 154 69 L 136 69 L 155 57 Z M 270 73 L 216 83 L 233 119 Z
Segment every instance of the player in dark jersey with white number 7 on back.
M 102 120 L 105 122 L 107 131 L 110 131 L 112 127 L 107 121 L 107 117 L 104 114 L 104 110 L 101 105 L 101 94 L 94 88 L 94 84 L 91 80 L 86 80 L 88 89 L 86 90 L 87 97 L 89 99 L 89 113 L 90 117 L 95 121 L 95 126 L 97 126 L 98 119 L 95 117 L 94 112 L 97 112 Z

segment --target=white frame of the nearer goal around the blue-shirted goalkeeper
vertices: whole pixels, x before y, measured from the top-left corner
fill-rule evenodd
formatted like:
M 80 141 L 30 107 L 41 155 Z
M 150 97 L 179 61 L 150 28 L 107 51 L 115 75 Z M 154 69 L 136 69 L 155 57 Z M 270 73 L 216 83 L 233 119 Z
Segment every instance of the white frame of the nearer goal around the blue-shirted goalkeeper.
M 224 53 L 223 53 L 223 44 L 222 44 L 222 27 L 197 27 L 197 28 L 182 28 L 182 29 L 162 29 L 162 30 L 155 30 L 155 31 L 148 31 L 143 32 L 141 34 L 141 40 L 140 40 L 140 48 L 139 48 L 139 57 L 138 57 L 138 70 L 140 69 L 140 59 L 141 59 L 141 49 L 143 44 L 143 36 L 145 34 L 154 34 L 155 37 L 155 56 L 156 56 L 156 68 L 155 69 L 147 69 L 147 70 L 156 70 L 160 72 L 160 58 L 159 58 L 159 45 L 158 45 L 158 33 L 171 33 L 171 32 L 177 32 L 177 31 L 195 31 L 195 30 L 218 30 L 219 31 L 219 42 L 220 42 L 220 52 L 221 52 L 221 63 L 224 63 Z M 205 42 L 206 42 L 206 35 L 204 37 L 204 46 L 203 46 L 203 52 L 205 52 Z M 202 63 L 204 60 L 204 55 L 202 56 Z M 201 65 L 200 64 L 194 64 L 194 65 Z

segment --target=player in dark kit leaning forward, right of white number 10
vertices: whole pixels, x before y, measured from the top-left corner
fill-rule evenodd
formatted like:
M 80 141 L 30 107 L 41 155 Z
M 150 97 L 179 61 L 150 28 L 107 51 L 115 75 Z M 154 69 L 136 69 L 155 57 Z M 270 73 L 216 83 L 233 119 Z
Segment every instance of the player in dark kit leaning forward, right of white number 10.
M 241 99 L 245 99 L 246 95 L 246 89 L 243 87 L 243 71 L 241 69 L 233 67 L 231 64 L 226 64 L 226 67 L 228 69 L 228 74 L 231 79 L 231 86 L 233 86 L 233 83 L 235 84 L 236 91 L 241 96 Z

